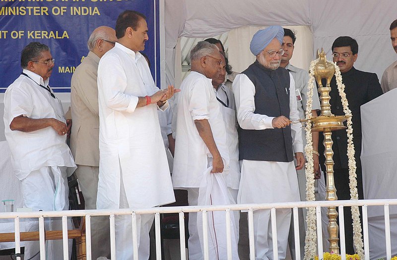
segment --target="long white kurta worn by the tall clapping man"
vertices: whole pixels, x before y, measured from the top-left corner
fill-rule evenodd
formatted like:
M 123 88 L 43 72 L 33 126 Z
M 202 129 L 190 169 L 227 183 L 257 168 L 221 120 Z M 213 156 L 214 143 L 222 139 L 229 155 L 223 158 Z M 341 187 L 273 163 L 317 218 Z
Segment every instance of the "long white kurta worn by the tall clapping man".
M 138 96 L 152 95 L 158 90 L 140 53 L 116 43 L 101 58 L 98 209 L 119 208 L 120 171 L 130 207 L 153 207 L 175 201 L 158 107 L 136 107 Z M 162 108 L 167 107 L 168 103 Z

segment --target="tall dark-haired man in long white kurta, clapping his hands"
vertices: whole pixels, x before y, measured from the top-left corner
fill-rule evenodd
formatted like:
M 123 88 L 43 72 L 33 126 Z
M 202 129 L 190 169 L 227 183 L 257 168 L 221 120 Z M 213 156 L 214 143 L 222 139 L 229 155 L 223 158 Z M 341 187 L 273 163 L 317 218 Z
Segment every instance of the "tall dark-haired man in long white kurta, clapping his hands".
M 124 11 L 118 42 L 98 66 L 98 209 L 147 208 L 175 201 L 157 109 L 168 108 L 174 87 L 159 90 L 145 58 L 145 16 Z M 175 91 L 176 92 L 176 91 Z M 149 258 L 153 215 L 138 215 L 138 257 Z M 116 217 L 116 258 L 132 260 L 131 215 Z

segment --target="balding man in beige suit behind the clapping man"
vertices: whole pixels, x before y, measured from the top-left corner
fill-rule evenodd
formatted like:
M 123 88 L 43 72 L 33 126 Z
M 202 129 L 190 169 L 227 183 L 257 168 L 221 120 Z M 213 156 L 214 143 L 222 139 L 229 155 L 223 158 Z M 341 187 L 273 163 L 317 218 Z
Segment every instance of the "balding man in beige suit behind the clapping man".
M 70 105 L 73 126 L 70 150 L 77 165 L 75 174 L 84 196 L 85 209 L 96 209 L 99 175 L 99 111 L 97 71 L 101 57 L 115 46 L 116 32 L 108 26 L 90 35 L 87 57 L 71 77 Z M 110 258 L 109 218 L 91 218 L 92 258 Z

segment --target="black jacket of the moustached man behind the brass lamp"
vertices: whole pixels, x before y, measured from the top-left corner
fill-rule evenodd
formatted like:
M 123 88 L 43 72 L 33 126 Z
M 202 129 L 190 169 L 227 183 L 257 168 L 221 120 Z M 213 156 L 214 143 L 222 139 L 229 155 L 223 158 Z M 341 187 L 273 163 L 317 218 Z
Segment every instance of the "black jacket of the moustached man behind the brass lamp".
M 342 82 L 345 85 L 346 98 L 352 113 L 353 143 L 357 168 L 361 168 L 361 111 L 360 106 L 383 94 L 378 76 L 375 73 L 358 71 L 354 67 L 342 74 Z M 331 80 L 331 112 L 334 115 L 344 115 L 342 101 L 336 87 L 335 76 Z M 346 122 L 344 123 L 346 125 Z M 324 136 L 320 133 L 319 153 L 320 163 L 324 169 Z M 334 169 L 348 169 L 347 159 L 347 133 L 346 130 L 332 131 L 332 150 Z

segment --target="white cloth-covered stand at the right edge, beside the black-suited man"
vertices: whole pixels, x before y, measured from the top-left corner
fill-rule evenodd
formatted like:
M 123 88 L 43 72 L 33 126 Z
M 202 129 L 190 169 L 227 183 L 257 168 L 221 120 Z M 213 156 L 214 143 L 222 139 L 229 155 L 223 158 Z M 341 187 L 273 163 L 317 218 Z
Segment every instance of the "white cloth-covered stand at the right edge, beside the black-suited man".
M 361 106 L 364 199 L 397 198 L 397 89 Z M 353 125 L 354 127 L 354 125 Z M 397 255 L 397 206 L 390 206 L 392 256 Z M 383 206 L 368 207 L 370 258 L 386 258 Z

